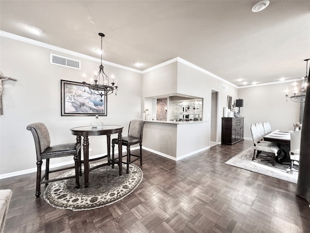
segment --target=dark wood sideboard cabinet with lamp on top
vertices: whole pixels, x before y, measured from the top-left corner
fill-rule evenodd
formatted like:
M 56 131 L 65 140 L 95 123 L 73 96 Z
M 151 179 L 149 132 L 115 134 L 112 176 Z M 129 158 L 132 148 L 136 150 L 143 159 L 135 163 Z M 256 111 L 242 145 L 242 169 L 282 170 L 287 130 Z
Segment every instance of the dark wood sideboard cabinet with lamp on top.
M 233 145 L 244 140 L 244 117 L 222 117 L 222 144 Z

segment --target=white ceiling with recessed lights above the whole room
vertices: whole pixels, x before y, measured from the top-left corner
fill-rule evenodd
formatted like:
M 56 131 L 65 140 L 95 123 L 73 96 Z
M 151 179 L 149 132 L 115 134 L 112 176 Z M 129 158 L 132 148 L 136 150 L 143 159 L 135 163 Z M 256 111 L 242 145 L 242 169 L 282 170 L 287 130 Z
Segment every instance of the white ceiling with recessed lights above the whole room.
M 258 1 L 0 0 L 0 30 L 96 58 L 105 33 L 105 61 L 145 70 L 181 57 L 237 86 L 304 77 L 310 1 L 270 0 L 253 13 Z

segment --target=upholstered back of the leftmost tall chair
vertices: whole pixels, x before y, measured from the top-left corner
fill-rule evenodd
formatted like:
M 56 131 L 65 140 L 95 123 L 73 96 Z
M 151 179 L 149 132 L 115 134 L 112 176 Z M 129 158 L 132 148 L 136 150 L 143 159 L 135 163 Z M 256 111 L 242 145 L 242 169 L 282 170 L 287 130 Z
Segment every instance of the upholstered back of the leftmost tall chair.
M 41 153 L 50 146 L 50 137 L 47 127 L 45 124 L 37 122 L 28 125 L 27 129 L 30 130 L 33 135 L 37 156 L 41 156 Z

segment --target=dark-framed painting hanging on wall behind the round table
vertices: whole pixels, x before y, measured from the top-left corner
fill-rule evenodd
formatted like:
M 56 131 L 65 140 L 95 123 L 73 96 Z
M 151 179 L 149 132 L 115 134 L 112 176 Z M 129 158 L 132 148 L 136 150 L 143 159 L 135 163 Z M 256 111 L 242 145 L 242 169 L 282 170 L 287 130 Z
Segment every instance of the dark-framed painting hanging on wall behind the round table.
M 83 83 L 61 80 L 62 116 L 107 116 L 107 96 L 94 95 Z

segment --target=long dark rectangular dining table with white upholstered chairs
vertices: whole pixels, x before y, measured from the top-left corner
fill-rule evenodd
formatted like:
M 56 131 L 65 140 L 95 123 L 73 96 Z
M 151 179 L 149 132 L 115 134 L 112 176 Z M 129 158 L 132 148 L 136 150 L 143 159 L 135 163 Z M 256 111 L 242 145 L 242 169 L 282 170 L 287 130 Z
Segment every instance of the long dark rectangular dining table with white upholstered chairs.
M 290 145 L 291 145 L 291 130 L 275 130 L 263 137 L 264 141 L 275 142 L 278 147 L 282 150 L 281 155 L 277 159 L 279 164 L 289 165 L 290 160 Z

